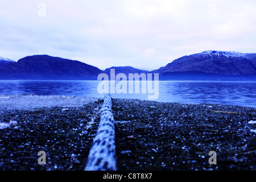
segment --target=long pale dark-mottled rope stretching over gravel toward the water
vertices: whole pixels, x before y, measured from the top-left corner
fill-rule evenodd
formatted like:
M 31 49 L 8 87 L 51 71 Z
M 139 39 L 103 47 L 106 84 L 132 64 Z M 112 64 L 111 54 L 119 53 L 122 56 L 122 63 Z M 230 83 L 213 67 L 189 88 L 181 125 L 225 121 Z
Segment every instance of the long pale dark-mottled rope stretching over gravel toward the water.
M 105 94 L 101 119 L 93 146 L 90 149 L 85 171 L 115 171 L 115 128 L 112 99 Z

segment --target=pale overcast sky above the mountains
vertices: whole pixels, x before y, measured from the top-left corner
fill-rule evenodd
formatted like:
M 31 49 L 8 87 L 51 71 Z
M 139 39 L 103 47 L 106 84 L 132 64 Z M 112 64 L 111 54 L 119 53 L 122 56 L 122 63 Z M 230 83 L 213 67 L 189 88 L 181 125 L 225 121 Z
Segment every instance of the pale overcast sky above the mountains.
M 151 71 L 205 50 L 256 52 L 255 0 L 0 0 L 0 56 Z

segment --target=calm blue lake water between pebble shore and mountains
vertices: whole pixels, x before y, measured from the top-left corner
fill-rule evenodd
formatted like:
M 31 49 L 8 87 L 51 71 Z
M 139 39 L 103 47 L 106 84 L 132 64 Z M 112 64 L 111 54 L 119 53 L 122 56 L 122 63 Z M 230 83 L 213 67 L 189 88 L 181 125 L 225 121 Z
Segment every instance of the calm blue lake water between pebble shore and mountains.
M 101 81 L 32 81 L 0 80 L 3 94 L 42 94 L 83 97 L 104 97 L 98 93 Z M 154 83 L 152 84 L 154 86 Z M 128 86 L 127 86 L 128 89 Z M 157 88 L 155 88 L 157 89 Z M 161 102 L 215 103 L 256 107 L 256 81 L 159 81 Z M 113 98 L 148 100 L 148 92 L 112 93 Z

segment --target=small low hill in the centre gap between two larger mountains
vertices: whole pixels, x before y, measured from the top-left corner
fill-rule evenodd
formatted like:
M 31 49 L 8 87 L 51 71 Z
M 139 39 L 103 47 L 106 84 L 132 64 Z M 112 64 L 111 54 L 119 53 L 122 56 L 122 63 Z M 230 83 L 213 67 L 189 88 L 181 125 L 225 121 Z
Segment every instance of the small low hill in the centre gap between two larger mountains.
M 111 67 L 111 68 L 105 69 L 104 72 L 110 75 L 110 69 L 115 69 L 115 75 L 117 75 L 118 73 L 125 73 L 126 76 L 128 76 L 129 73 L 138 73 L 138 74 L 148 73 L 148 71 L 144 71 L 144 70 L 133 68 L 133 67 Z

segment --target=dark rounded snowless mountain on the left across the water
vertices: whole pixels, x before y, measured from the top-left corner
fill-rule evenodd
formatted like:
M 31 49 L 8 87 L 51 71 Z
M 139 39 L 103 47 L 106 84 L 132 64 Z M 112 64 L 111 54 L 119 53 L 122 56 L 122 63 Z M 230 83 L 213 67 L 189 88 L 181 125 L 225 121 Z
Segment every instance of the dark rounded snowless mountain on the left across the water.
M 48 55 L 27 56 L 0 66 L 0 79 L 97 80 L 100 73 L 92 65 Z

